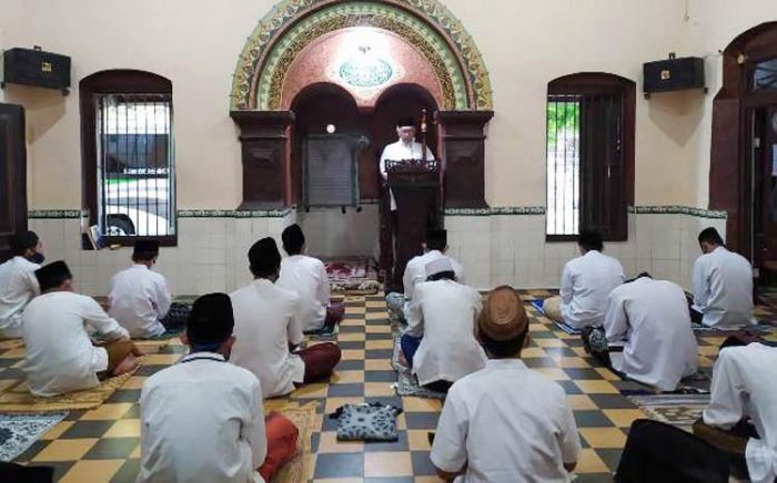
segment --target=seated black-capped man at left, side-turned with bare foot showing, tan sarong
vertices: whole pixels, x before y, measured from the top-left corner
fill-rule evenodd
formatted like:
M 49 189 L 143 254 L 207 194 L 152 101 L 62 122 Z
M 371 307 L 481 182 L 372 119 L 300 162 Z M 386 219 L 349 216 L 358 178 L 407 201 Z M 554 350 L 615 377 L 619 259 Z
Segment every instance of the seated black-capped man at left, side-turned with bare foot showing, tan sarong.
M 73 276 L 64 261 L 39 268 L 36 277 L 41 295 L 22 316 L 22 369 L 30 392 L 50 397 L 89 389 L 138 367 L 135 356 L 141 352 L 130 335 L 94 299 L 73 292 Z M 102 346 L 92 345 L 87 326 L 102 336 Z

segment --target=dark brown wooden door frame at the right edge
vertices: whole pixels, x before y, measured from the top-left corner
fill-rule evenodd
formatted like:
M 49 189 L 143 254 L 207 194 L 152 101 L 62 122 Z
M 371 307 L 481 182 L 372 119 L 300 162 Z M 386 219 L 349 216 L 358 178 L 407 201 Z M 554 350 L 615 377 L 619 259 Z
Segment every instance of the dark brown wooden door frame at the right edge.
M 777 22 L 761 23 L 737 37 L 723 52 L 723 88 L 713 101 L 709 208 L 727 213 L 728 247 L 753 260 L 748 120 L 755 107 L 777 103 L 777 92 L 751 93 L 755 63 L 777 56 Z

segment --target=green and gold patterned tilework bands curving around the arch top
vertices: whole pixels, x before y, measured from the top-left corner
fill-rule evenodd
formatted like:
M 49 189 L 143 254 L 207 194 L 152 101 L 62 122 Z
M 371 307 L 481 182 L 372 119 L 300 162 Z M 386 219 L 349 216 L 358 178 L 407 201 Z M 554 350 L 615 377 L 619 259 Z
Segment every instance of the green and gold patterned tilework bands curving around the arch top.
M 256 72 L 260 56 L 270 47 L 271 40 L 282 27 L 284 27 L 287 22 L 294 21 L 296 18 L 307 13 L 310 10 L 317 8 L 323 1 L 325 0 L 284 0 L 278 3 L 260 21 L 252 34 L 249 37 L 243 51 L 238 59 L 231 93 L 231 107 L 233 110 L 266 109 L 264 103 L 265 100 L 270 100 L 268 89 L 270 85 L 272 85 L 271 82 L 262 79 L 262 82 L 259 83 L 256 92 L 259 97 L 258 105 L 251 105 L 251 83 L 254 76 L 260 74 L 263 78 L 272 79 L 272 75 L 268 74 L 274 72 L 274 70 L 278 69 L 278 65 L 271 65 L 269 62 L 265 62 L 263 72 Z M 412 23 L 415 25 L 421 25 L 422 29 L 416 30 L 416 32 L 422 33 L 426 41 L 430 42 L 430 45 L 434 48 L 434 51 L 438 58 L 444 60 L 447 72 L 456 74 L 453 79 L 454 97 L 456 102 L 455 106 L 448 109 L 492 109 L 491 82 L 488 80 L 488 73 L 485 69 L 485 64 L 483 63 L 481 53 L 470 34 L 466 33 L 462 23 L 451 13 L 451 11 L 437 0 L 390 1 L 396 6 L 400 6 L 401 8 L 373 1 L 346 2 L 326 7 L 321 12 L 312 17 L 321 16 L 319 17 L 319 21 L 321 22 L 327 19 L 331 21 L 331 17 L 326 16 L 333 14 L 341 17 L 354 14 L 362 16 L 362 20 L 367 20 L 364 18 L 365 14 L 372 14 L 375 19 L 382 19 L 382 24 L 384 25 L 386 21 L 392 21 L 393 24 L 407 25 Z M 415 12 L 417 17 L 423 18 L 426 22 L 440 29 L 448 41 L 456 47 L 455 54 L 450 51 L 447 43 L 445 43 L 445 41 L 433 31 L 433 29 L 404 9 Z M 303 20 L 303 22 L 309 22 L 310 24 L 310 20 L 311 19 L 309 18 Z M 367 22 L 367 24 L 370 24 L 370 22 Z M 275 61 L 279 59 L 278 55 L 282 54 L 284 47 L 289 48 L 289 43 L 293 42 L 295 37 L 304 34 L 304 32 L 311 32 L 310 28 L 307 30 L 301 30 L 300 25 L 295 25 L 292 31 L 294 33 L 286 32 L 284 38 L 279 42 L 279 45 L 273 49 L 270 56 L 275 55 Z M 466 82 L 461 79 L 462 73 L 458 69 L 458 62 L 455 58 L 456 55 L 462 59 L 465 65 L 466 72 L 464 74 L 467 76 L 467 81 L 472 85 L 472 93 L 474 97 L 472 101 L 467 99 Z M 268 56 L 268 60 L 272 61 L 270 56 Z M 283 69 L 287 69 L 287 64 L 282 65 Z

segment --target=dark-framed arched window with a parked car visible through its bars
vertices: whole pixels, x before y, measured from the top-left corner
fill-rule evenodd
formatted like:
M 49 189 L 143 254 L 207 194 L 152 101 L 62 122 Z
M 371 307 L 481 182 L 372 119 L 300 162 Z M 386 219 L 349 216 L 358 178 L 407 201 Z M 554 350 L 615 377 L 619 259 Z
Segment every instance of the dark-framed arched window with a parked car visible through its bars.
M 81 82 L 84 201 L 110 243 L 175 243 L 170 81 L 107 71 Z M 84 95 L 85 94 L 85 95 Z

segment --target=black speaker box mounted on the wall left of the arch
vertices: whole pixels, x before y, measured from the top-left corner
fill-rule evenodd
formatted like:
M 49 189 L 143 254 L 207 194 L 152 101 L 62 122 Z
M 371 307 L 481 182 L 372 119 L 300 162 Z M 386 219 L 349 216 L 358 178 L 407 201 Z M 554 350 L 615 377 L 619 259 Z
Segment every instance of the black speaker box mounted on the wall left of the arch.
M 70 88 L 70 58 L 38 49 L 3 52 L 3 83 L 49 89 Z

